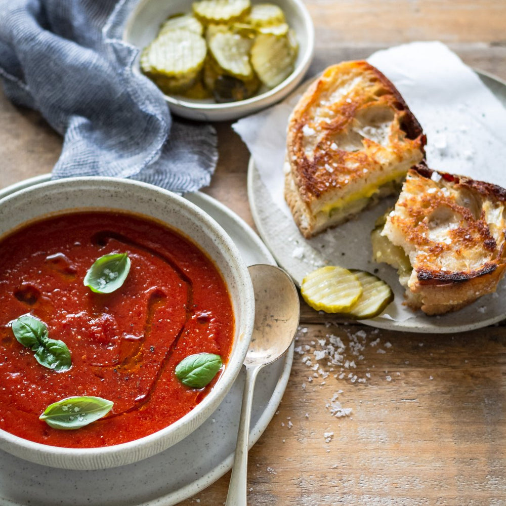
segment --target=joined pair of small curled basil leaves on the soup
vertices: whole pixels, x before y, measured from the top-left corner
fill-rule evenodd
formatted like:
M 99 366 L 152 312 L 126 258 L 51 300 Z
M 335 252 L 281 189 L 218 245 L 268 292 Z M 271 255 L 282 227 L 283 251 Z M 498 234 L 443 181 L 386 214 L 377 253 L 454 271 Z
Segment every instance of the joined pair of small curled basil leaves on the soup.
M 35 352 L 35 359 L 40 365 L 57 372 L 70 369 L 72 359 L 67 345 L 63 341 L 49 339 L 48 327 L 43 321 L 26 314 L 13 320 L 11 326 L 15 338 Z

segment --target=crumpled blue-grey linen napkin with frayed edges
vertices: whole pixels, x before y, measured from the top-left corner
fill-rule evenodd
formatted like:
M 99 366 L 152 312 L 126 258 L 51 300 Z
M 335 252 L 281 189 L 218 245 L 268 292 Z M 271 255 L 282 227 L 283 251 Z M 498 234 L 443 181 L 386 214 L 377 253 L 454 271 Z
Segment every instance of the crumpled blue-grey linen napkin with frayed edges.
M 9 99 L 64 136 L 53 178 L 115 176 L 185 193 L 218 159 L 209 124 L 171 117 L 162 93 L 132 71 L 121 40 L 138 0 L 0 0 L 0 77 Z

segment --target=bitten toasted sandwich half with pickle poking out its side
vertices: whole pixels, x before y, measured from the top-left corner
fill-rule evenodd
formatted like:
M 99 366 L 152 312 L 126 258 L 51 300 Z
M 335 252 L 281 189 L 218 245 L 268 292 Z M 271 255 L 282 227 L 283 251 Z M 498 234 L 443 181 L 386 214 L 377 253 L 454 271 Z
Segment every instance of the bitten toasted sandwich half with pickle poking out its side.
M 398 269 L 408 306 L 443 314 L 496 290 L 505 231 L 506 190 L 418 165 L 372 234 L 373 255 Z

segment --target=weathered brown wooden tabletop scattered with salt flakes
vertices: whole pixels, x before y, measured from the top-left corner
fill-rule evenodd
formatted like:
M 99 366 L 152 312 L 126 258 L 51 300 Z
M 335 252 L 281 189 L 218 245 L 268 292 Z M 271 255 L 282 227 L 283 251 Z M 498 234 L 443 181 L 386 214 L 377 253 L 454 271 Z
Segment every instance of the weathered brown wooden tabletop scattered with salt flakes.
M 316 28 L 310 73 L 438 39 L 465 63 L 506 79 L 504 0 L 305 3 Z M 249 155 L 230 125 L 216 124 L 220 159 L 204 191 L 254 226 Z M 44 119 L 0 94 L 0 187 L 50 172 L 60 149 Z M 403 333 L 350 325 L 303 305 L 297 346 L 305 355 L 323 350 L 332 335 L 344 345 L 343 365 L 321 360 L 315 371 L 294 355 L 279 409 L 249 454 L 249 504 L 506 504 L 506 326 Z M 336 403 L 346 415 L 332 414 Z M 181 504 L 224 503 L 229 476 Z

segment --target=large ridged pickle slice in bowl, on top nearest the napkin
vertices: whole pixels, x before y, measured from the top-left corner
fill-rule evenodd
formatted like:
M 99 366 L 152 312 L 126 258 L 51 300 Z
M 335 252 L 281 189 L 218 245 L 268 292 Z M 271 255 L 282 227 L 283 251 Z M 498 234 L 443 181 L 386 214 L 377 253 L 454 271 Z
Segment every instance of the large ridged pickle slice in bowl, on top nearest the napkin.
M 206 53 L 205 40 L 199 34 L 171 30 L 156 37 L 143 51 L 141 69 L 150 77 L 191 77 L 202 68 Z

